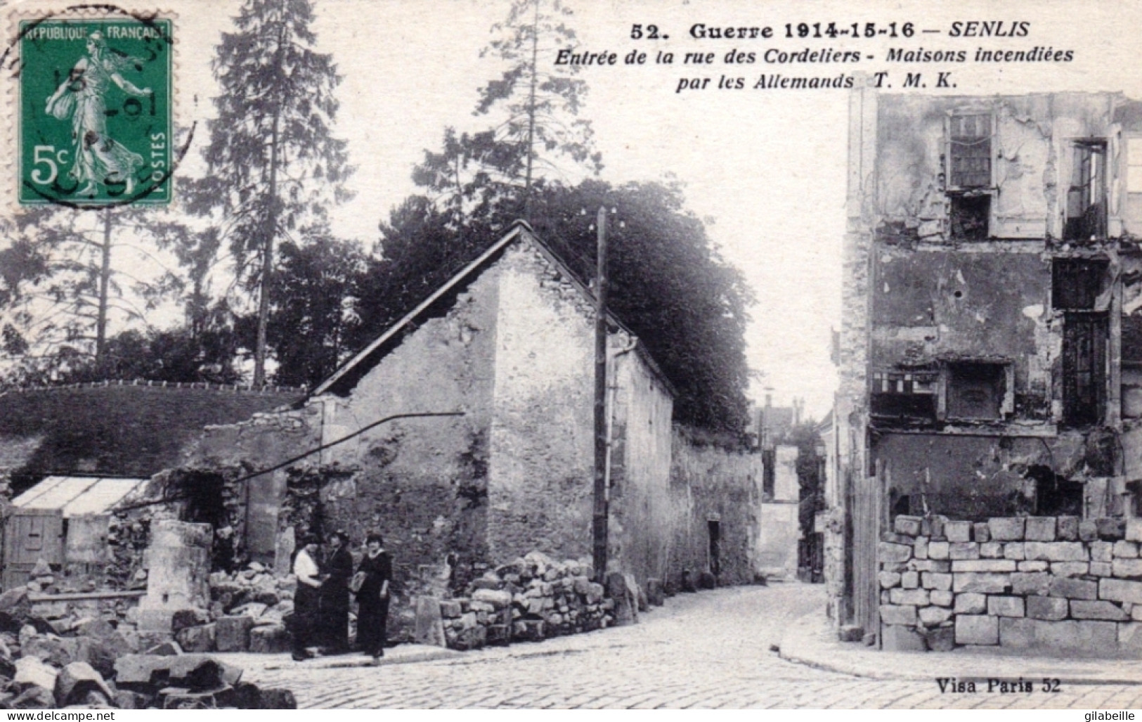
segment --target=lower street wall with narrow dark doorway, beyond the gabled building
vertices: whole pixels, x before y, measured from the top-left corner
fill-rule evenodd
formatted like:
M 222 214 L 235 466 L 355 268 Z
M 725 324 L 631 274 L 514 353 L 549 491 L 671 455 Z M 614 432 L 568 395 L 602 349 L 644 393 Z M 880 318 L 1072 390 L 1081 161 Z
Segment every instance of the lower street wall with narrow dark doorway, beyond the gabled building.
M 691 578 L 711 571 L 710 522 L 716 521 L 721 536 L 718 584 L 751 583 L 761 537 L 762 455 L 697 443 L 681 426 L 675 426 L 673 444 L 675 519 L 666 581 L 678 588 L 684 571 Z M 796 528 L 796 506 L 793 520 Z M 795 570 L 796 552 L 795 540 Z

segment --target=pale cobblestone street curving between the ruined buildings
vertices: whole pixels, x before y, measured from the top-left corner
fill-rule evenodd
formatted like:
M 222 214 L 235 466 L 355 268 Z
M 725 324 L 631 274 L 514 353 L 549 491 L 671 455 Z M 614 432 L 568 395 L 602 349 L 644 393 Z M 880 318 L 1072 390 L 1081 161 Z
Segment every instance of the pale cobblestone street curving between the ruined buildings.
M 1057 693 L 1044 693 L 1036 684 L 1031 693 L 942 693 L 935 680 L 860 679 L 793 664 L 771 650 L 795 619 L 822 604 L 820 586 L 724 588 L 675 596 L 630 627 L 380 667 L 351 666 L 356 657 L 323 668 L 283 661 L 250 668 L 247 679 L 288 687 L 298 706 L 309 708 L 1142 706 L 1140 685 L 1065 683 Z M 994 674 L 1011 674 L 1012 665 L 996 658 Z

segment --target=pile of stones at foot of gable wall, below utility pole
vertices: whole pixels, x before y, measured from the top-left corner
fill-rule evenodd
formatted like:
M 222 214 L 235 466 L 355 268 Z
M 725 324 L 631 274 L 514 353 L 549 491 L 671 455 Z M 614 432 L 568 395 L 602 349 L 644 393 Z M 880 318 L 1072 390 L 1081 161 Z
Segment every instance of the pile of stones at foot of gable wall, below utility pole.
M 476 649 L 606 627 L 614 601 L 590 573 L 589 561 L 557 562 L 539 552 L 489 570 L 465 596 L 439 602 L 443 641 Z

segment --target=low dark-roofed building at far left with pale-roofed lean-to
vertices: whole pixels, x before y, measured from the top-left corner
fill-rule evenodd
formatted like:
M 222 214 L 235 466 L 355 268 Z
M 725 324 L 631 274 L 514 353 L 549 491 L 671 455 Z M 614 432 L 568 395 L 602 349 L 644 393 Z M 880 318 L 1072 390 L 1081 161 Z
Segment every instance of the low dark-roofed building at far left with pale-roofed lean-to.
M 0 584 L 22 584 L 39 560 L 102 572 L 111 561 L 111 507 L 178 466 L 203 426 L 244 420 L 303 395 L 132 380 L 3 392 L 0 497 L 15 497 L 16 508 L 5 516 Z

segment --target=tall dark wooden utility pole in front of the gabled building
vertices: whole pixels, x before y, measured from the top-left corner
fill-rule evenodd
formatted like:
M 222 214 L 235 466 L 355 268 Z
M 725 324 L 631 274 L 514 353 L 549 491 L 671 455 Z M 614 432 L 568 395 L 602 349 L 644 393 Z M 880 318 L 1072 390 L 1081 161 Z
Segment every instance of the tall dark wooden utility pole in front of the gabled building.
M 606 209 L 600 207 L 598 260 L 595 270 L 595 580 L 606 576 Z

